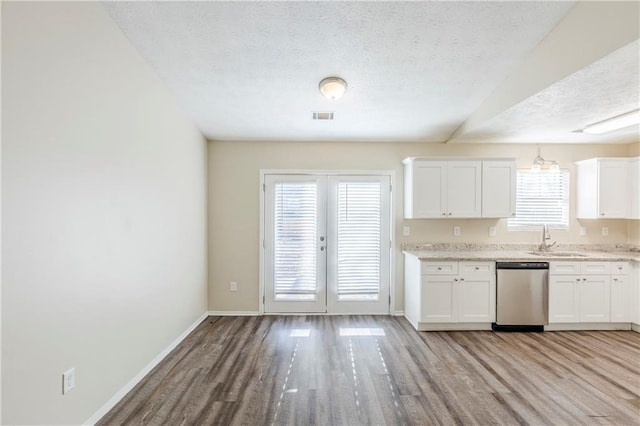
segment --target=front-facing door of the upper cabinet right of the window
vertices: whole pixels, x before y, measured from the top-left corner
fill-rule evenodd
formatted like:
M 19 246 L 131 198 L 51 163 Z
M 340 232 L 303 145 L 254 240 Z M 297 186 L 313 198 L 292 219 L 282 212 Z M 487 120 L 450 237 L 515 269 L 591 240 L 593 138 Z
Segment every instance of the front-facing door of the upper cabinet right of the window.
M 609 219 L 629 217 L 629 162 L 626 159 L 600 160 L 598 182 L 599 216 Z

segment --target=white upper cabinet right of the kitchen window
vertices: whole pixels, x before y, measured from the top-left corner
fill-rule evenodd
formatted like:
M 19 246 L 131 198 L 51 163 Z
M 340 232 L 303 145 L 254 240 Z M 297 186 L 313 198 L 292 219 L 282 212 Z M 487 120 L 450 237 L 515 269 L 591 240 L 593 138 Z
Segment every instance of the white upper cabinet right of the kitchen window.
M 592 158 L 576 162 L 576 217 L 628 219 L 637 205 L 637 182 L 632 184 L 630 158 Z M 635 201 L 634 201 L 635 200 Z

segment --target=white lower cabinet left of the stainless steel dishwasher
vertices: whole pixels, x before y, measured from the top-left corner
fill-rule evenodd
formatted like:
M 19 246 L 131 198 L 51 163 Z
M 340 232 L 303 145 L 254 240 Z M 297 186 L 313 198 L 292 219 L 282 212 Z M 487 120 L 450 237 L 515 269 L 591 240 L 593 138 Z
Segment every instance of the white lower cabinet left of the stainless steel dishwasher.
M 495 262 L 420 261 L 406 255 L 405 315 L 419 330 L 429 324 L 489 329 L 496 313 L 495 277 Z

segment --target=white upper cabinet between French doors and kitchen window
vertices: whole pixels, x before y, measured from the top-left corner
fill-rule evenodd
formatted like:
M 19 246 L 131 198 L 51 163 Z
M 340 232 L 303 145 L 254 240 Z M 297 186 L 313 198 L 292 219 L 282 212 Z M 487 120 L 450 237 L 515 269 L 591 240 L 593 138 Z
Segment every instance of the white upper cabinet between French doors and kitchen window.
M 516 177 L 512 159 L 407 158 L 403 163 L 406 219 L 515 214 Z

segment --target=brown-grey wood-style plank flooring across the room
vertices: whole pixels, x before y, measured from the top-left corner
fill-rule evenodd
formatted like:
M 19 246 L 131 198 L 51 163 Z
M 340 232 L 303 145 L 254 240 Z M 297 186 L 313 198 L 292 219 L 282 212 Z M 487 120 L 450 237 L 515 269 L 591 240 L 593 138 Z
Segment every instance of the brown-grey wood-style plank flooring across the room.
M 640 424 L 640 334 L 209 317 L 99 425 Z

